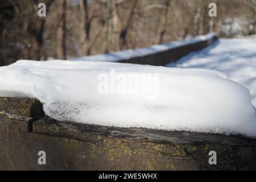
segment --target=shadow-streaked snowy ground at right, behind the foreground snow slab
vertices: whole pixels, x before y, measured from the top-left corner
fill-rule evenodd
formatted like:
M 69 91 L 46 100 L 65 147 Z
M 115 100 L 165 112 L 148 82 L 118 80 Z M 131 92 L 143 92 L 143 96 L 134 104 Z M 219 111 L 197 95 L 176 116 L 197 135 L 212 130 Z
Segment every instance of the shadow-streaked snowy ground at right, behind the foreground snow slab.
M 256 107 L 256 39 L 220 39 L 219 43 L 167 67 L 203 68 L 225 73 L 230 80 L 250 90 Z

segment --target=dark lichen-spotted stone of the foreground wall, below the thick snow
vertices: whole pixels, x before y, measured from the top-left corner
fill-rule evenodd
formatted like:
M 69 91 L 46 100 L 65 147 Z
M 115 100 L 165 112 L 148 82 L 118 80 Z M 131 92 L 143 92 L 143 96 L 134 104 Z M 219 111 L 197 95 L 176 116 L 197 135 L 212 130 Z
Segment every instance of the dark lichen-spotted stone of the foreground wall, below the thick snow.
M 31 98 L 0 100 L 38 103 Z M 9 106 L 0 110 L 1 170 L 256 169 L 256 139 L 64 123 Z M 22 106 L 30 110 L 31 105 Z M 42 105 L 36 108 L 40 113 Z M 38 164 L 39 151 L 46 152 L 46 165 Z M 217 152 L 217 165 L 209 165 L 209 151 Z

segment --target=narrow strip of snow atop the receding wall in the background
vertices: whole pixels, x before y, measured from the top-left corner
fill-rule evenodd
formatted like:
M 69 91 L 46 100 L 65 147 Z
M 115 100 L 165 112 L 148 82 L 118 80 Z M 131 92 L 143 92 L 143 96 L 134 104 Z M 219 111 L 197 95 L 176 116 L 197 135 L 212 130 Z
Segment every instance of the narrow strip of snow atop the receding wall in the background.
M 216 36 L 215 33 L 209 33 L 207 35 L 197 36 L 191 39 L 185 39 L 176 42 L 170 42 L 165 44 L 158 44 L 151 47 L 146 48 L 138 48 L 138 49 L 127 49 L 125 51 L 119 52 L 110 52 L 104 53 L 101 55 L 92 55 L 92 56 L 85 56 L 73 59 L 75 61 L 108 61 L 108 62 L 116 62 L 120 60 L 129 60 L 133 57 L 143 57 L 146 55 L 155 54 L 157 52 L 163 52 L 168 49 L 187 46 L 188 44 L 195 44 L 197 42 L 201 42 L 202 40 L 209 40 Z

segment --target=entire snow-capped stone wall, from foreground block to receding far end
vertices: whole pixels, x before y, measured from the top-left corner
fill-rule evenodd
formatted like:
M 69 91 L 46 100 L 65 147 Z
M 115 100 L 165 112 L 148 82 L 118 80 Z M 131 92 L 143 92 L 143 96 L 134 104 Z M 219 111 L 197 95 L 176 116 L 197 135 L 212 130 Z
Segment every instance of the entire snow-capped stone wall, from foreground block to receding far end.
M 170 63 L 170 61 L 176 61 L 189 52 L 199 51 L 209 46 L 209 44 L 216 39 L 217 36 L 215 34 L 208 34 L 183 42 L 174 42 L 152 46 L 150 48 L 127 50 L 105 55 L 88 56 L 79 60 L 165 65 L 166 63 Z M 54 64 L 54 70 L 51 69 L 52 64 Z M 253 120 L 250 119 L 250 117 L 255 118 L 253 106 L 250 103 L 249 92 L 242 86 L 226 80 L 225 78 L 218 77 L 218 73 L 208 71 L 197 70 L 193 72 L 192 70 L 188 70 L 188 72 L 183 73 L 176 68 L 170 71 L 171 69 L 169 70 L 169 68 L 156 68 L 144 65 L 137 65 L 135 67 L 135 65 L 123 64 L 121 68 L 121 64 L 117 63 L 103 64 L 93 62 L 90 64 L 73 63 L 72 61 L 50 61 L 49 63 L 18 61 L 9 67 L 2 68 L 0 74 L 0 80 L 2 82 L 2 90 L 0 89 L 2 94 L 2 97 L 0 97 L 0 170 L 256 169 L 256 139 L 246 138 L 242 135 L 233 135 L 238 133 L 254 136 L 255 134 L 254 127 L 252 127 L 255 125 Z M 179 103 L 185 103 L 187 106 L 191 106 L 191 109 L 185 110 L 187 114 L 181 113 L 184 119 L 183 122 L 177 123 L 177 118 L 174 120 L 172 115 L 167 115 L 166 118 L 170 118 L 172 123 L 175 125 L 180 124 L 181 127 L 183 127 L 181 125 L 183 123 L 191 123 L 192 130 L 166 131 L 159 130 L 158 127 L 142 128 L 141 126 L 137 128 L 121 128 L 118 127 L 118 125 L 104 126 L 99 125 L 100 123 L 72 122 L 71 119 L 68 121 L 59 121 L 59 119 L 54 119 L 53 116 L 63 116 L 63 114 L 59 111 L 54 112 L 54 110 L 52 115 L 50 115 L 51 117 L 47 116 L 47 107 L 43 106 L 43 104 L 47 103 L 46 98 L 48 97 L 43 97 L 46 93 L 49 93 L 47 96 L 53 96 L 52 98 L 57 98 L 57 96 L 65 97 L 70 93 L 70 96 L 86 96 L 88 99 L 100 99 L 100 97 L 96 97 L 95 95 L 86 95 L 86 92 L 92 90 L 92 83 L 88 82 L 87 87 L 81 89 L 82 84 L 80 84 L 79 79 L 77 79 L 80 78 L 83 82 L 84 80 L 90 81 L 89 79 L 85 79 L 88 77 L 79 76 L 86 73 L 86 68 L 87 72 L 90 73 L 90 78 L 92 78 L 92 75 L 97 71 L 95 68 L 98 64 L 101 64 L 103 72 L 104 70 L 108 71 L 109 68 L 113 68 L 113 65 L 115 65 L 117 71 L 122 72 L 130 70 L 148 72 L 151 69 L 151 72 L 162 72 L 164 76 L 162 85 L 166 85 L 166 82 L 169 82 L 169 86 L 175 86 L 171 89 L 172 92 L 167 90 L 167 94 L 163 94 L 163 96 L 166 97 L 163 97 L 161 100 L 166 101 L 163 103 L 168 102 L 171 105 L 170 107 L 152 105 L 147 109 L 162 110 L 171 108 L 177 113 L 179 108 L 188 108 L 179 105 Z M 84 66 L 82 67 L 82 65 Z M 72 72 L 69 72 L 71 68 Z M 185 85 L 185 89 L 183 89 L 183 85 L 179 84 L 179 82 L 172 82 L 172 77 L 175 76 L 172 74 L 174 72 L 175 75 L 178 76 L 175 78 L 182 78 L 182 80 L 187 79 L 187 82 L 183 84 Z M 189 73 L 189 75 L 187 75 L 187 73 Z M 198 83 L 198 79 L 200 78 L 201 80 L 202 76 L 205 78 L 205 81 L 200 82 L 202 84 L 193 85 L 195 81 Z M 76 77 L 76 79 L 73 79 L 73 77 Z M 179 81 L 179 79 L 176 79 L 176 81 Z M 217 83 L 215 81 L 220 84 L 217 84 L 217 86 L 216 84 L 212 85 L 212 83 Z M 67 82 L 73 84 L 71 86 L 73 90 L 66 89 L 65 85 L 63 86 L 63 84 Z M 222 89 L 219 89 L 222 82 L 226 82 L 226 85 L 222 86 Z M 197 92 L 197 89 L 201 90 L 201 85 L 205 84 L 208 84 L 210 89 L 204 89 L 205 92 L 202 93 Z M 78 85 L 80 85 L 80 89 L 74 89 L 78 88 Z M 214 86 L 218 89 L 214 90 Z M 193 92 L 187 90 L 188 87 L 192 88 Z M 47 90 L 50 92 L 45 92 Z M 76 92 L 73 92 L 74 90 L 76 90 Z M 2 91 L 8 91 L 8 93 Z M 187 97 L 187 99 L 179 100 L 179 94 L 176 93 L 183 93 L 181 91 L 184 91 L 184 94 L 181 94 L 181 96 L 198 95 L 200 99 L 197 97 L 193 97 L 193 99 L 191 99 L 192 97 Z M 82 94 L 78 94 L 79 92 Z M 225 95 L 225 93 L 229 93 L 230 96 Z M 168 97 L 168 94 L 172 94 L 173 98 Z M 209 97 L 207 97 L 207 94 Z M 9 97 L 4 97 L 5 95 L 9 95 Z M 20 98 L 13 98 L 18 95 Z M 218 99 L 212 96 L 218 96 Z M 35 98 L 38 98 L 38 100 Z M 127 101 L 135 101 L 135 99 L 131 100 L 129 97 L 123 98 L 126 98 Z M 81 101 L 80 97 L 77 97 L 77 99 Z M 71 101 L 73 101 L 73 98 Z M 112 104 L 112 101 L 113 100 L 109 100 L 106 103 Z M 118 101 L 120 101 L 121 106 L 123 103 L 128 103 L 123 102 L 123 100 Z M 138 100 L 138 103 L 139 101 L 140 100 Z M 55 102 L 55 104 L 58 103 L 59 102 Z M 197 104 L 196 107 L 195 103 Z M 205 103 L 208 104 L 207 107 L 204 107 L 203 104 Z M 212 105 L 209 105 L 209 103 L 212 103 Z M 229 105 L 230 107 L 226 107 Z M 76 113 L 76 108 L 76 110 L 66 111 L 68 106 L 71 105 L 61 104 L 61 106 L 60 109 L 63 108 L 61 111 L 63 111 L 64 115 L 73 114 L 78 117 L 80 116 Z M 90 109 L 90 105 L 87 103 L 81 106 L 87 107 L 87 110 Z M 97 103 L 93 105 L 93 108 L 96 106 L 98 106 Z M 217 112 L 220 110 L 219 106 L 224 108 L 222 109 L 222 113 L 225 113 L 225 115 L 221 115 Z M 184 118 L 184 116 L 191 113 L 195 108 L 199 108 L 197 112 L 200 111 L 201 116 L 204 115 L 205 118 L 213 118 L 212 115 L 215 115 L 220 122 L 218 123 L 216 119 L 216 121 L 206 123 L 207 125 L 202 125 L 201 123 L 197 125 L 200 119 L 197 118 L 195 121 L 192 121 L 191 117 Z M 245 111 L 240 110 L 240 108 Z M 123 112 L 120 112 L 122 107 L 118 109 L 118 111 L 115 111 L 115 115 L 122 115 L 123 118 L 129 115 L 129 108 L 126 110 L 123 109 Z M 201 109 L 203 109 L 203 112 Z M 204 110 L 207 110 L 207 112 Z M 139 113 L 139 111 L 138 109 L 135 111 L 130 110 L 130 113 Z M 93 110 L 92 113 L 96 112 L 97 110 Z M 112 113 L 113 112 L 110 112 L 110 114 Z M 148 118 L 154 114 L 153 111 L 147 111 L 147 113 Z M 164 115 L 163 112 L 159 113 L 162 116 Z M 166 113 L 171 114 L 170 111 Z M 106 112 L 106 114 L 108 114 L 108 112 Z M 245 117 L 242 117 L 243 114 L 246 114 Z M 86 116 L 86 114 L 84 115 Z M 110 117 L 112 115 L 110 115 Z M 237 115 L 240 117 L 237 117 Z M 103 115 L 103 117 L 105 116 Z M 159 125 L 162 124 L 159 122 L 159 117 L 151 117 L 150 119 L 154 119 L 155 123 Z M 88 121 L 92 121 L 92 119 L 88 119 Z M 121 120 L 117 118 L 117 121 Z M 130 119 L 129 125 L 136 121 L 143 121 L 143 118 L 132 118 Z M 148 122 L 145 123 L 148 124 Z M 212 126 L 216 129 L 217 127 L 215 126 L 220 124 L 225 129 L 224 131 L 227 131 L 224 133 L 229 133 L 230 135 L 222 135 L 223 132 L 221 130 L 213 132 L 215 134 L 212 132 L 195 133 L 193 132 L 197 131 L 195 130 L 195 128 L 197 128 L 195 124 L 200 127 L 207 126 L 205 129 L 211 129 Z M 233 129 L 237 129 L 237 131 Z M 46 152 L 47 165 L 39 165 L 39 151 Z M 218 156 L 217 165 L 209 164 L 210 151 L 216 152 Z

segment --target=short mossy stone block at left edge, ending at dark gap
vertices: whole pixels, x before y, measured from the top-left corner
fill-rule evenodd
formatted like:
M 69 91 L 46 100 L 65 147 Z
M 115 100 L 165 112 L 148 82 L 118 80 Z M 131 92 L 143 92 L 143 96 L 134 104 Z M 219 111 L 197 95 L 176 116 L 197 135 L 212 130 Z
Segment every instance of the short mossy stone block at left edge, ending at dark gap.
M 43 105 L 34 98 L 0 97 L 0 111 L 23 117 L 42 117 Z

